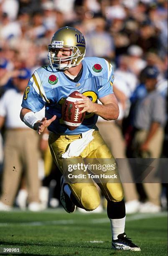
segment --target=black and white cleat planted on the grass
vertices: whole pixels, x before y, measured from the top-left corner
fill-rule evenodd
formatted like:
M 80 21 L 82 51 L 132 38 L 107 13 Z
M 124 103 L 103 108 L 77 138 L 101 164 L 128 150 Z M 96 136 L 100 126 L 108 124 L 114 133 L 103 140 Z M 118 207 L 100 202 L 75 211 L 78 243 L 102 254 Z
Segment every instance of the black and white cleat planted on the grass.
M 112 248 L 115 250 L 130 250 L 130 251 L 140 251 L 140 248 L 132 243 L 131 238 L 128 238 L 125 233 L 117 236 L 118 239 L 112 240 Z

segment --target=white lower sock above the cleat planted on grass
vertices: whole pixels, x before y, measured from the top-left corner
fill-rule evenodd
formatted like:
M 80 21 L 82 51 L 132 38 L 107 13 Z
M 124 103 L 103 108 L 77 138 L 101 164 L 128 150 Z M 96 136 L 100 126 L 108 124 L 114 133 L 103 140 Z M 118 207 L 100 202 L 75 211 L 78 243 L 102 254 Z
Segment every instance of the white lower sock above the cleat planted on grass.
M 118 239 L 117 236 L 124 233 L 125 229 L 125 217 L 122 219 L 109 219 L 112 228 L 112 239 Z

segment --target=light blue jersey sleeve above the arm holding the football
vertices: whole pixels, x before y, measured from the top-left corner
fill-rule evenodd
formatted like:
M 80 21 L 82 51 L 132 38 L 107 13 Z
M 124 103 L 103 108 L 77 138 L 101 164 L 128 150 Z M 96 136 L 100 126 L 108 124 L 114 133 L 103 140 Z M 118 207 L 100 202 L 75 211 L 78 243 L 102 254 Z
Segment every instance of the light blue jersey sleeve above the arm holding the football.
M 103 77 L 99 77 L 98 82 L 98 98 L 102 98 L 104 96 L 107 96 L 109 94 L 113 93 L 113 82 L 114 82 L 114 71 L 112 64 L 110 64 L 108 61 L 104 60 L 106 62 L 106 72 L 104 73 Z

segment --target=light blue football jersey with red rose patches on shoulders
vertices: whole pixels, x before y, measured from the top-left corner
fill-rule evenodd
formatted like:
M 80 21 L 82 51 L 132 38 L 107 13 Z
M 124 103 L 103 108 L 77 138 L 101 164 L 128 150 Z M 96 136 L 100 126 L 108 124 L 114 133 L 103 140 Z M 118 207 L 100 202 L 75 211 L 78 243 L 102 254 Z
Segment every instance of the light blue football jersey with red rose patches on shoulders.
M 57 116 L 48 126 L 48 130 L 53 133 L 74 135 L 96 128 L 98 115 L 93 113 L 87 113 L 84 121 L 74 131 L 66 128 L 61 118 L 61 108 L 71 92 L 77 90 L 92 102 L 113 93 L 114 75 L 111 64 L 105 59 L 88 57 L 84 58 L 82 65 L 83 72 L 78 82 L 72 82 L 64 72 L 51 68 L 50 65 L 40 67 L 34 72 L 25 89 L 23 108 L 36 113 L 45 106 L 47 119 Z

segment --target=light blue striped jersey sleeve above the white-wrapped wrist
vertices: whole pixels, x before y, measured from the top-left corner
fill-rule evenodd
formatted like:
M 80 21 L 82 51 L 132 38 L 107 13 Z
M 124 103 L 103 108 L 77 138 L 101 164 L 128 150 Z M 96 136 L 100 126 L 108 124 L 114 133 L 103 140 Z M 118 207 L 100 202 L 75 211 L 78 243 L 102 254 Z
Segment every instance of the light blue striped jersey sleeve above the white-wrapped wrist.
M 35 75 L 31 77 L 25 89 L 22 101 L 22 108 L 28 108 L 31 111 L 38 112 L 45 106 L 43 94 L 38 86 Z

